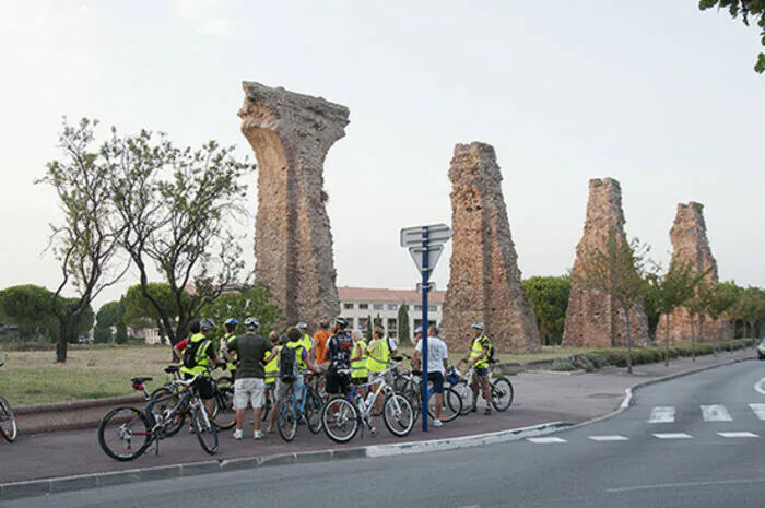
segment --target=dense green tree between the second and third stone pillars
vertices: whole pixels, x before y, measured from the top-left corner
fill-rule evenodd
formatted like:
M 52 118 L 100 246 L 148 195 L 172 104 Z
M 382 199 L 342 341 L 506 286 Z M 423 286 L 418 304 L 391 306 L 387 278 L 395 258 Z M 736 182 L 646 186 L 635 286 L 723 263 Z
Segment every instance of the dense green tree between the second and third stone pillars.
M 532 276 L 520 282 L 523 296 L 531 302 L 543 343 L 560 344 L 568 309 L 572 276 Z

